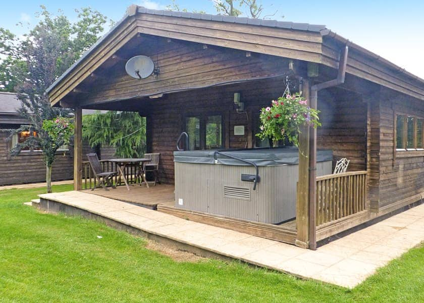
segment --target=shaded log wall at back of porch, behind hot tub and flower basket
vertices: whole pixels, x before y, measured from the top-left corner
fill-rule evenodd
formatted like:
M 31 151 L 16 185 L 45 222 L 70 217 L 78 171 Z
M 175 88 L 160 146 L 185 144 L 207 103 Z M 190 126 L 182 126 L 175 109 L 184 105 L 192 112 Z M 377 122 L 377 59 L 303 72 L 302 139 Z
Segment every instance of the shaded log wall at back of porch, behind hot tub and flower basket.
M 161 153 L 160 178 L 162 182 L 174 182 L 173 151 L 176 140 L 184 129 L 185 116 L 221 114 L 225 148 L 252 147 L 258 132 L 258 115 L 262 107 L 283 94 L 283 81 L 268 79 L 244 84 L 220 86 L 170 94 L 150 100 L 147 118 L 147 150 Z M 241 93 L 246 114 L 238 114 L 233 104 L 234 92 Z M 333 90 L 321 94 L 319 110 L 323 127 L 318 132 L 319 148 L 333 149 L 335 161 L 347 157 L 349 170 L 366 169 L 366 104 L 359 95 Z M 234 135 L 234 126 L 245 128 L 243 136 Z

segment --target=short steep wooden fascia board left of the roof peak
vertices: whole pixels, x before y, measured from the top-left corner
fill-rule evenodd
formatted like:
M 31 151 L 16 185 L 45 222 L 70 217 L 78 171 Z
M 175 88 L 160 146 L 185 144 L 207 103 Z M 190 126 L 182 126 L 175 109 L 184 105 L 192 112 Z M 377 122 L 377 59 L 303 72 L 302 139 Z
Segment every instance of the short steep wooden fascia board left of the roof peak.
M 117 29 L 108 39 L 105 39 L 92 54 L 87 56 L 78 64 L 58 85 L 49 93 L 48 97 L 51 106 L 56 105 L 60 100 L 71 92 L 78 84 L 88 77 L 96 68 L 109 59 L 126 42 L 137 35 L 137 26 L 134 17 L 128 17 L 126 22 Z

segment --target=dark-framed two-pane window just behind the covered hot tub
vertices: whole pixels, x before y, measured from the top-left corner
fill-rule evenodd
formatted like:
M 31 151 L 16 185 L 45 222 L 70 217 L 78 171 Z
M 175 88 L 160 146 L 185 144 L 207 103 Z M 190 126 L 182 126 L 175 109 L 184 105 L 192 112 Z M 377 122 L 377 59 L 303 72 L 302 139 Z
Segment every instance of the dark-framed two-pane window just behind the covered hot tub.
M 223 147 L 223 121 L 221 115 L 185 118 L 185 131 L 190 139 L 190 150 Z

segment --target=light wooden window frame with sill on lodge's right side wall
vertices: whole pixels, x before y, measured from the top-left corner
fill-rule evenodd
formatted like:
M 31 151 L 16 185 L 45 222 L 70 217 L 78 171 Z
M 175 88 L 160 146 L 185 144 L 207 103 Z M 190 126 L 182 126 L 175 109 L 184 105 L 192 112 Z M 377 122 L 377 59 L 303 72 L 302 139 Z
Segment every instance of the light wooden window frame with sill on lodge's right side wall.
M 402 147 L 398 147 L 398 131 L 397 131 L 397 122 L 398 117 L 403 116 L 403 135 L 402 135 Z M 412 134 L 412 146 L 408 148 L 408 118 L 414 118 L 413 120 L 413 134 Z M 417 125 L 418 120 L 421 120 L 421 147 L 417 147 Z M 402 112 L 394 113 L 394 134 L 393 134 L 393 143 L 394 143 L 394 153 L 396 157 L 421 157 L 424 156 L 424 117 L 418 115 L 405 114 Z

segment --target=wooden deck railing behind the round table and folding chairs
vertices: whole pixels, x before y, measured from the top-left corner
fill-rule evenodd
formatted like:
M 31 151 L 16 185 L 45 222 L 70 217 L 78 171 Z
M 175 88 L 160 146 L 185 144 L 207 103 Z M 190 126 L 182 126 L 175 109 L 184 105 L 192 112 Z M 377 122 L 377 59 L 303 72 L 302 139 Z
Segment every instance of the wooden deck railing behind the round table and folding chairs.
M 117 164 L 115 162 L 110 162 L 108 160 L 100 160 L 101 168 L 104 172 L 119 172 Z M 137 168 L 134 165 L 128 165 L 125 167 L 125 178 L 128 181 L 128 184 L 138 183 L 140 180 L 135 178 L 137 173 Z M 116 175 L 114 177 L 114 184 L 117 186 L 125 185 L 124 180 L 122 178 L 118 178 Z M 90 167 L 90 163 L 88 161 L 82 162 L 82 187 L 83 189 L 90 189 L 95 187 L 97 184 L 97 180 L 93 174 L 93 171 Z

